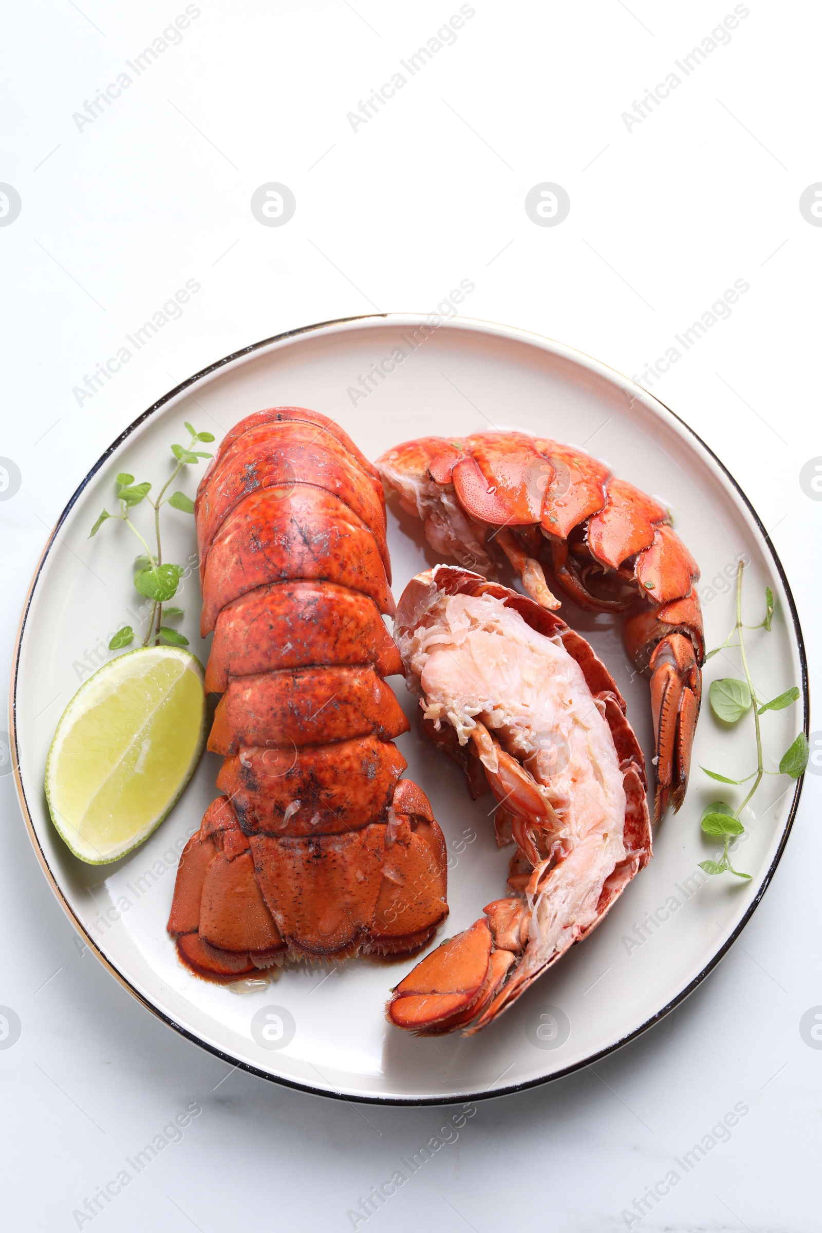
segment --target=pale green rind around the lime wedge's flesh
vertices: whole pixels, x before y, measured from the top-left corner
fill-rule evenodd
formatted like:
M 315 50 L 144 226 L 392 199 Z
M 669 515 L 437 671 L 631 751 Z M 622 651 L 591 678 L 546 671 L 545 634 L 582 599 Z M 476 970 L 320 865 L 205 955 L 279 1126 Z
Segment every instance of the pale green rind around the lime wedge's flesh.
M 174 688 L 174 684 L 182 679 L 185 672 L 191 672 L 196 677 L 200 687 L 198 730 L 192 742 L 189 763 L 179 776 L 174 777 L 174 785 L 169 792 L 169 795 L 163 799 L 161 806 L 158 808 L 145 820 L 145 822 L 139 826 L 138 830 L 129 834 L 127 838 L 111 845 L 95 845 L 89 841 L 87 836 L 84 837 L 83 826 L 78 829 L 58 808 L 60 792 L 55 777 L 58 773 L 59 755 L 67 737 L 75 727 L 75 724 L 80 723 L 83 718 L 89 714 L 95 703 L 104 700 L 106 697 L 117 695 L 117 677 L 121 677 L 122 679 L 131 677 L 132 681 L 139 679 L 137 673 L 128 672 L 129 667 L 136 666 L 133 663 L 134 657 L 140 657 L 140 660 L 145 662 L 147 670 L 150 668 L 152 663 L 168 665 L 176 661 L 181 666 L 181 671 L 176 681 L 171 683 L 171 688 Z M 132 662 L 124 663 L 123 661 Z M 160 699 L 160 705 L 163 699 Z M 149 836 L 158 829 L 160 822 L 168 817 L 169 813 L 185 790 L 202 755 L 203 746 L 206 743 L 206 735 L 207 711 L 205 672 L 200 660 L 190 651 L 173 646 L 138 647 L 134 651 L 127 651 L 124 655 L 117 656 L 115 660 L 110 660 L 108 663 L 104 663 L 104 666 L 99 668 L 94 676 L 83 683 L 63 711 L 46 761 L 46 799 L 54 827 L 69 851 L 85 864 L 111 864 L 113 861 L 120 861 L 122 857 L 133 852 L 134 848 L 144 843 L 145 840 L 149 838 Z M 139 730 L 134 732 L 134 737 L 138 736 Z M 105 777 L 102 779 L 102 784 L 105 784 Z

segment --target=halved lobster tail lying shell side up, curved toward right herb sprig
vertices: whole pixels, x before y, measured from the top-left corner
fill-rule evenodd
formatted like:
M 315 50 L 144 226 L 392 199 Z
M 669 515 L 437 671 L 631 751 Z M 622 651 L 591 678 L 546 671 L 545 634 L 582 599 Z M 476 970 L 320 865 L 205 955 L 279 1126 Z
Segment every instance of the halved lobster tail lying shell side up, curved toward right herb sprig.
M 699 568 L 668 510 L 605 464 L 525 433 L 421 436 L 377 460 L 429 543 L 494 577 L 499 546 L 547 610 L 558 591 L 593 612 L 625 613 L 624 637 L 651 676 L 656 820 L 685 795 L 705 657 Z

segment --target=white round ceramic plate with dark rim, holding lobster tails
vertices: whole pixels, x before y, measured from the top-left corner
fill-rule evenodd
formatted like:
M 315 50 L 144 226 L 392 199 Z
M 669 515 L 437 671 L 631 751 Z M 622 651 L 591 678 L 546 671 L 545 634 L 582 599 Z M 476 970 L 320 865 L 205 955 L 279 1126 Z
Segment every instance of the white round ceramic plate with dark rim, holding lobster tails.
M 95 647 L 105 651 L 134 604 L 128 530 L 108 523 L 87 539 L 97 513 L 111 502 L 118 471 L 157 482 L 168 473 L 170 443 L 186 439 L 184 419 L 219 440 L 248 413 L 288 403 L 332 416 L 372 459 L 410 436 L 466 434 L 489 424 L 583 445 L 673 510 L 678 534 L 702 568 L 709 647 L 722 641 L 735 620 L 727 576 L 738 554 L 751 562 L 744 591 L 751 624 L 762 616 L 765 584 L 773 588 L 773 631 L 748 635 L 752 671 L 764 697 L 799 684 L 802 700 L 763 718 L 767 767 L 778 766 L 807 716 L 801 631 L 781 566 L 743 493 L 686 425 L 627 379 L 557 343 L 458 318 L 424 332 L 424 321 L 364 317 L 283 334 L 221 360 L 144 412 L 83 481 L 49 539 L 21 621 L 11 723 L 23 815 L 43 869 L 87 944 L 126 988 L 190 1039 L 259 1075 L 327 1095 L 408 1104 L 498 1095 L 567 1074 L 631 1039 L 682 1001 L 762 898 L 801 783 L 786 777 L 764 780 L 755 819 L 749 817 L 736 852 L 737 867 L 753 874 L 752 880 L 739 883 L 727 874 L 705 879 L 698 862 L 714 850 L 700 832 L 701 811 L 712 799 L 736 803 L 739 797 L 733 795 L 737 789 L 712 784 L 699 764 L 733 778 L 755 764 L 751 715 L 736 729 L 720 731 L 705 705 L 688 799 L 657 830 L 649 867 L 588 941 L 470 1039 L 418 1039 L 386 1023 L 388 988 L 410 969 L 409 961 L 386 967 L 357 959 L 332 974 L 325 968 L 292 969 L 266 989 L 242 996 L 206 984 L 177 962 L 165 922 L 179 852 L 216 795 L 219 760 L 203 757 L 158 832 L 116 866 L 76 861 L 57 836 L 42 794 L 57 720 L 80 679 L 87 679 L 84 657 L 94 661 Z M 394 370 L 385 375 L 392 354 Z M 372 379 L 367 397 L 356 397 L 361 375 L 381 363 L 383 377 Z M 398 515 L 393 501 L 389 509 L 388 544 L 399 596 L 435 557 L 420 524 Z M 170 510 L 166 522 L 174 530 L 165 559 L 195 560 L 191 519 Z M 196 572 L 182 602 L 185 633 L 205 661 L 207 646 L 196 636 Z M 649 760 L 648 686 L 626 662 L 619 619 L 584 616 L 567 604 L 563 614 L 606 660 Z M 715 677 L 741 676 L 737 653 L 710 661 L 706 686 Z M 392 684 L 413 718 L 415 700 L 402 678 Z M 510 850 L 494 845 L 490 798 L 471 801 L 462 773 L 424 742 L 415 724 L 398 745 L 408 774 L 434 803 L 451 853 L 451 915 L 441 940 L 505 893 Z M 266 1007 L 276 1007 L 271 1014 L 279 1016 L 269 1033 L 272 1048 L 251 1034 L 253 1017 L 265 1017 Z M 279 1022 L 285 1025 L 280 1034 Z

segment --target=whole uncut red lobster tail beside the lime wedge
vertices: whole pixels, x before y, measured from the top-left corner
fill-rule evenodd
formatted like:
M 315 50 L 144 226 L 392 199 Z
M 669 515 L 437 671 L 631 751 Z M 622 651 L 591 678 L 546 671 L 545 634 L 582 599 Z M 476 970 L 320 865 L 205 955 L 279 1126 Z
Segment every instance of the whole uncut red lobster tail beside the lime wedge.
M 195 509 L 223 795 L 180 858 L 177 953 L 216 981 L 412 954 L 447 915 L 446 851 L 392 740 L 380 477 L 325 416 L 274 407 L 228 433 Z

